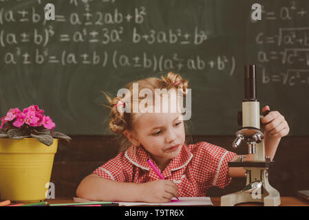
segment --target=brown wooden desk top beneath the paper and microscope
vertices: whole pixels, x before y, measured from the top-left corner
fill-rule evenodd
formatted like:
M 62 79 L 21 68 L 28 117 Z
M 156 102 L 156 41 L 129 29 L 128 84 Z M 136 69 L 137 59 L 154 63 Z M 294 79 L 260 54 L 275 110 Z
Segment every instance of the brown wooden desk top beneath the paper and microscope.
M 211 197 L 213 206 L 220 206 L 220 197 Z M 74 203 L 72 198 L 58 198 L 58 199 L 46 199 L 50 204 L 56 203 Z M 263 206 L 263 203 L 242 203 L 237 206 Z M 300 197 L 281 197 L 280 206 L 309 206 L 309 201 L 302 199 Z

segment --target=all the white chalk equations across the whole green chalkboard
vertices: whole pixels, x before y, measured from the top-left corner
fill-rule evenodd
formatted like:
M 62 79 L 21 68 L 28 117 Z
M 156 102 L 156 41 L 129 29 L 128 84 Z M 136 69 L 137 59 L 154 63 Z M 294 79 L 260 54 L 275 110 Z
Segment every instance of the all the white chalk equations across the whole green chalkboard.
M 55 20 L 47 21 L 43 8 L 48 1 L 10 0 L 10 4 L 0 1 L 3 64 L 92 65 L 153 72 L 211 70 L 233 76 L 243 59 L 236 52 L 222 53 L 220 47 L 217 54 L 212 52 L 211 56 L 184 53 L 189 47 L 193 51 L 201 50 L 212 43 L 215 36 L 198 23 L 189 23 L 189 28 L 182 26 L 181 21 L 168 24 L 169 21 L 153 15 L 160 8 L 153 10 L 153 4 L 147 1 L 137 1 L 126 7 L 120 0 L 54 2 Z M 252 25 L 249 30 L 252 29 L 255 36 L 248 41 L 256 46 L 252 59 L 259 64 L 262 83 L 309 85 L 309 27 L 301 22 L 308 21 L 308 8 L 299 2 L 286 1 L 279 8 L 266 3 L 262 5 L 263 16 L 258 27 L 254 22 L 249 23 Z M 295 27 L 295 23 L 305 25 Z M 135 50 L 137 47 L 139 50 Z M 268 68 L 270 65 L 278 65 L 281 69 L 274 72 Z

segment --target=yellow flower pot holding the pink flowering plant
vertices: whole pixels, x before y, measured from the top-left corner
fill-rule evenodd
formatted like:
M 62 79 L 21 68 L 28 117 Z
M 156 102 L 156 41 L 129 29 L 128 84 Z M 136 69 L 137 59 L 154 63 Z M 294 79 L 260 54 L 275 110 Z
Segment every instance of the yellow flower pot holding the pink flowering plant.
M 0 138 L 0 198 L 22 203 L 46 199 L 58 139 L 46 146 L 34 138 Z

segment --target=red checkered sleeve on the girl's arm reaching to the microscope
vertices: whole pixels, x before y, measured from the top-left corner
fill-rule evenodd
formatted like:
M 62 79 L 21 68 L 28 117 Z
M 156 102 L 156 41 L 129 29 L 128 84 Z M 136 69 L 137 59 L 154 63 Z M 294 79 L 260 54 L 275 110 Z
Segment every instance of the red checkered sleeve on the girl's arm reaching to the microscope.
M 197 181 L 204 183 L 206 188 L 225 188 L 230 184 L 232 178 L 228 177 L 228 162 L 236 153 L 207 142 L 199 142 L 194 148 L 193 166 Z

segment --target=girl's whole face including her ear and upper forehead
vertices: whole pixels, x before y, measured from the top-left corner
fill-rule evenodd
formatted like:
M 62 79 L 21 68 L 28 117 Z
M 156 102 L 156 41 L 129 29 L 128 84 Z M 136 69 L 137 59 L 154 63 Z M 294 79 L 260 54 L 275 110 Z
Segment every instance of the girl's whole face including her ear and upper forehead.
M 167 102 L 169 107 L 176 104 L 172 96 Z M 175 96 L 174 96 L 175 97 Z M 142 145 L 148 151 L 160 168 L 164 168 L 169 161 L 177 157 L 185 141 L 184 121 L 180 107 L 182 102 L 177 100 L 176 111 L 163 111 L 163 99 L 151 104 L 153 113 L 136 113 L 134 115 L 134 131 L 125 131 L 124 134 L 132 144 Z M 156 111 L 160 109 L 160 111 Z M 160 113 L 155 113 L 160 112 Z

